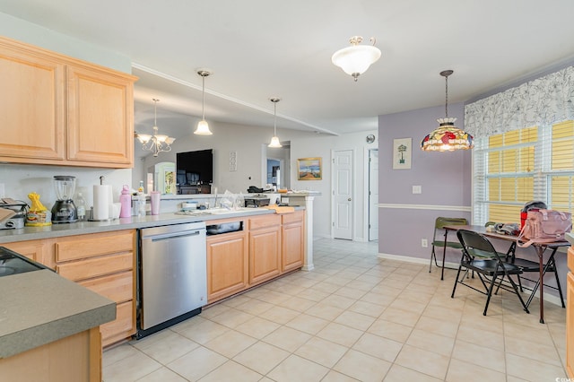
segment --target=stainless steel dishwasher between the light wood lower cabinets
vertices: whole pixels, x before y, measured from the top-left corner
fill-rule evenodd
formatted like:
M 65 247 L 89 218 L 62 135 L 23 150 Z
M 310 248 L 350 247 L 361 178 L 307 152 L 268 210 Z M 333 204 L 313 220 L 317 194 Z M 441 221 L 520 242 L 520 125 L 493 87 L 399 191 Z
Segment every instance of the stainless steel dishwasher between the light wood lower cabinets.
M 140 230 L 137 338 L 201 312 L 207 303 L 205 223 Z

